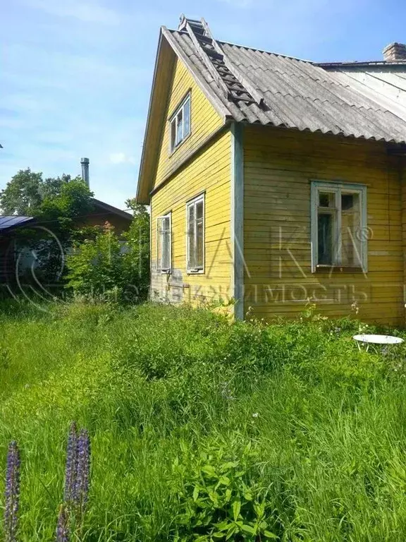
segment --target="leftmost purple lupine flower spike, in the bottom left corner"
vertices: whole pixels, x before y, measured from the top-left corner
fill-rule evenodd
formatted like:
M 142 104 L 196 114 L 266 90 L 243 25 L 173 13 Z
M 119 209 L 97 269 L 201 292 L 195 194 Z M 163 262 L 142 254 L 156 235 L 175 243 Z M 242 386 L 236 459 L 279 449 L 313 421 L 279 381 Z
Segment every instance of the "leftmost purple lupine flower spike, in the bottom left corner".
M 18 450 L 15 440 L 8 445 L 5 501 L 5 540 L 6 542 L 15 542 L 18 527 L 18 505 L 20 503 L 20 450 Z

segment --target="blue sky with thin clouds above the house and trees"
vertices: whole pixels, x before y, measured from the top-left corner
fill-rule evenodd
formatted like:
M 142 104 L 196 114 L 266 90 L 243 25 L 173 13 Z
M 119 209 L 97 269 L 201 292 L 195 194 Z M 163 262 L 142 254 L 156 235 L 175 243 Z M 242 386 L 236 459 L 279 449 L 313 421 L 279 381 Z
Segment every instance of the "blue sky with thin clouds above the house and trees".
M 317 61 L 406 42 L 404 0 L 13 0 L 1 8 L 0 188 L 18 169 L 135 195 L 159 27 L 204 17 L 221 40 Z

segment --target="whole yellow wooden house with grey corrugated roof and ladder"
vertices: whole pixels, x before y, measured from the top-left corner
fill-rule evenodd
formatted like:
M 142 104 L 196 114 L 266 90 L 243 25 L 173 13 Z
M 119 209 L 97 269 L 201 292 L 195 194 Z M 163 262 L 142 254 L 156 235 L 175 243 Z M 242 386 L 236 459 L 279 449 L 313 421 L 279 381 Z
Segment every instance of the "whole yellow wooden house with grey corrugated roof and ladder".
M 405 323 L 406 46 L 316 64 L 161 28 L 137 188 L 151 297 Z

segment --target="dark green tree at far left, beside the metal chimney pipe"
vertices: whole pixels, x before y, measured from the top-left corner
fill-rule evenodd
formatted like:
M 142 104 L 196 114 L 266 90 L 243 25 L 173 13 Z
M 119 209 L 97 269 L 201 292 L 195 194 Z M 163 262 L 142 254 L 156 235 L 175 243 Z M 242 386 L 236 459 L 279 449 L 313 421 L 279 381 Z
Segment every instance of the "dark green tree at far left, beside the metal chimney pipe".
M 78 229 L 78 218 L 92 208 L 92 192 L 80 177 L 62 174 L 43 179 L 42 173 L 30 168 L 20 170 L 0 192 L 4 215 L 35 217 L 35 224 L 14 232 L 18 253 L 16 276 L 42 284 L 58 282 L 63 276 L 66 251 L 73 241 L 84 236 Z M 87 229 L 86 235 L 95 233 Z M 26 266 L 27 255 L 34 258 Z M 20 262 L 25 262 L 20 265 Z

